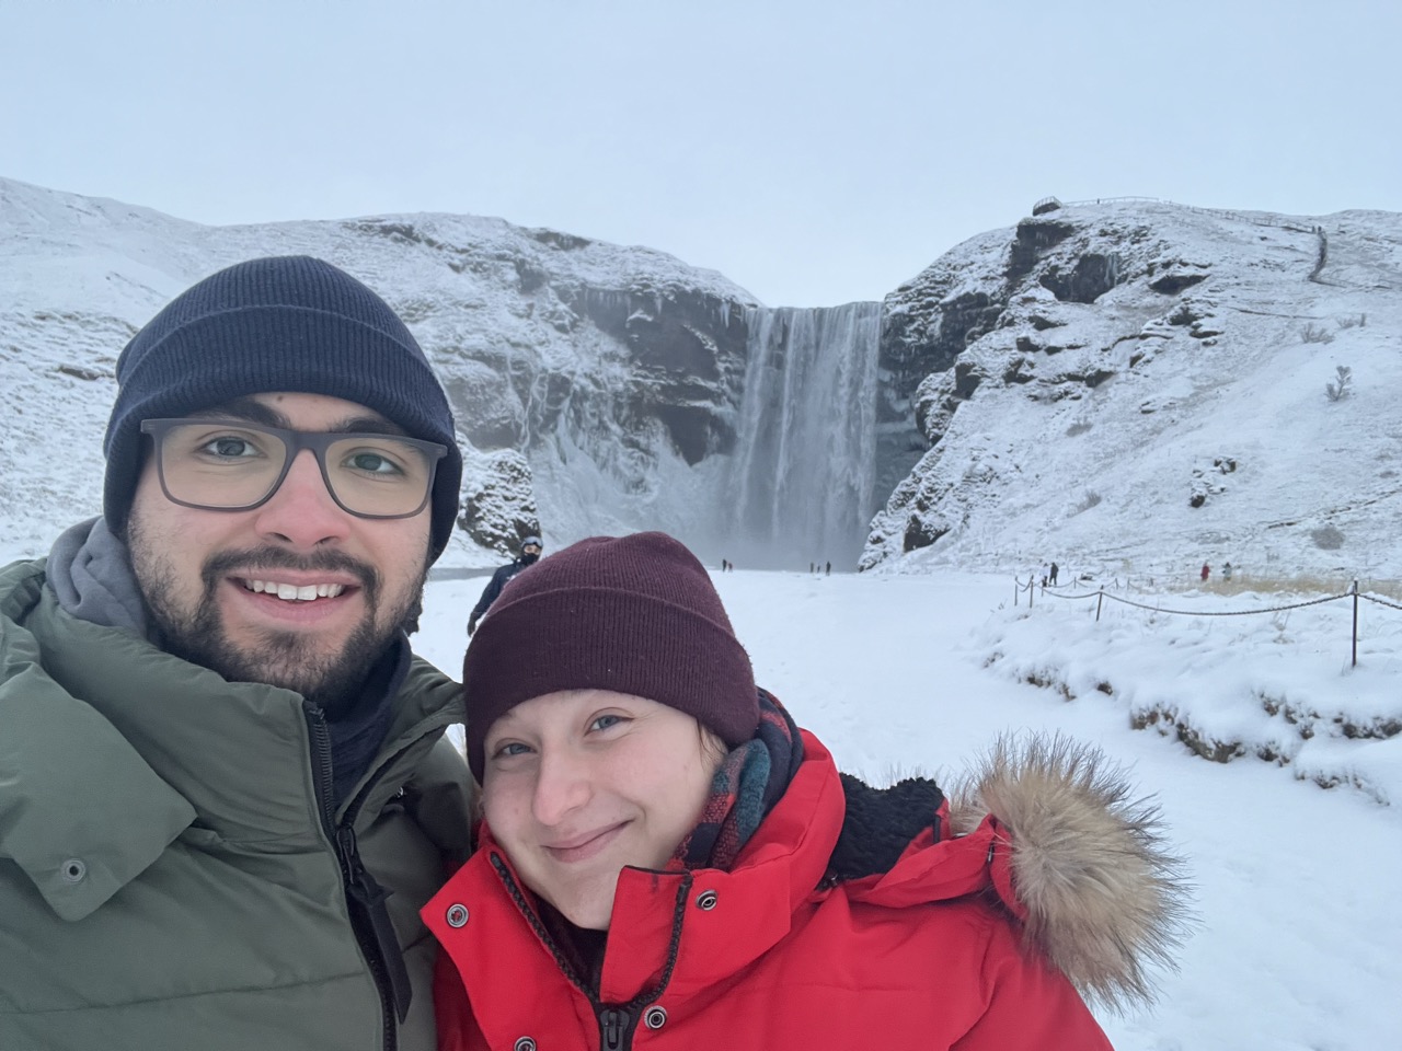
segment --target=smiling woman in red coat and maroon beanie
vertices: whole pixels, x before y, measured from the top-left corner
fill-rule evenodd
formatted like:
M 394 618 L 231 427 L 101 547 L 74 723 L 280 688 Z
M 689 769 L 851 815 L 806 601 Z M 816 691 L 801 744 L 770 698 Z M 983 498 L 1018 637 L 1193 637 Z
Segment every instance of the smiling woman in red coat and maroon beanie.
M 1141 998 L 1173 944 L 1168 859 L 1094 757 L 995 753 L 1011 837 L 865 789 L 660 533 L 512 580 L 464 682 L 484 823 L 423 909 L 443 1048 L 1108 1048 L 1071 978 Z

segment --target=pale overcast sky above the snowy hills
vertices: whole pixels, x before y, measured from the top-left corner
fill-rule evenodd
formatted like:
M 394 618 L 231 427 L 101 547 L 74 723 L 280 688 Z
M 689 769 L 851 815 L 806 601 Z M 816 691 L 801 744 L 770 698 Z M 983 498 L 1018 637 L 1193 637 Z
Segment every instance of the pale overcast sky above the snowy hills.
M 833 305 L 1046 195 L 1402 212 L 1399 41 L 1398 0 L 0 0 L 0 175 L 501 216 Z

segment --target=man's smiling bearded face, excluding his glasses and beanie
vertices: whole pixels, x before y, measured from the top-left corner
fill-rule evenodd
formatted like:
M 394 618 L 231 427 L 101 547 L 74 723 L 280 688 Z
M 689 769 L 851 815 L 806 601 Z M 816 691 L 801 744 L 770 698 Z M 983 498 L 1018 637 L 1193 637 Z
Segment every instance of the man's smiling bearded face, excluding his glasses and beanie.
M 387 423 L 363 405 L 321 394 L 245 401 L 269 411 L 261 422 L 289 430 Z M 430 513 L 373 520 L 342 510 L 310 450 L 259 507 L 184 507 L 165 497 L 147 457 L 128 545 L 170 653 L 231 681 L 286 687 L 334 708 L 355 696 L 401 625 L 418 615 Z

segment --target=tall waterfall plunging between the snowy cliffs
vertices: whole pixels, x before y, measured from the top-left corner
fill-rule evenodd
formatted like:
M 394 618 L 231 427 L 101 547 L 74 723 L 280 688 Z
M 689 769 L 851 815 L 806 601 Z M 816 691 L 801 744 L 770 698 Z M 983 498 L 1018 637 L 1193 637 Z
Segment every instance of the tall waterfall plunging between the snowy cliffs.
M 855 568 L 876 511 L 880 307 L 746 311 L 744 392 L 722 535 L 747 565 Z

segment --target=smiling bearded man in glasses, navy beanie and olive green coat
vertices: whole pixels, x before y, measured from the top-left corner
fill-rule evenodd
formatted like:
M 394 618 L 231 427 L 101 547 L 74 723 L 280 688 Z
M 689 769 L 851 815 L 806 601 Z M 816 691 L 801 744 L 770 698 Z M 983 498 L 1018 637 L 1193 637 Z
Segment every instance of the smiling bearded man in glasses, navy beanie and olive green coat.
M 0 1048 L 432 1051 L 443 391 L 310 258 L 195 284 L 116 380 L 102 517 L 0 570 Z

